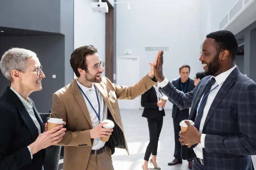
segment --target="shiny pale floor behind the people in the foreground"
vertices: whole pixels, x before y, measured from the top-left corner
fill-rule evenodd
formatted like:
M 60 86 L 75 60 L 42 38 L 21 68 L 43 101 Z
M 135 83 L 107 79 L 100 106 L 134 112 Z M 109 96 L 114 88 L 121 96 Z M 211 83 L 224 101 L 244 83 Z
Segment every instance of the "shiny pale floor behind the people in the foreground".
M 148 123 L 141 116 L 143 110 L 121 110 L 125 136 L 128 142 L 130 156 L 123 149 L 116 149 L 112 155 L 115 170 L 142 170 L 144 154 L 149 142 Z M 174 159 L 174 135 L 171 110 L 166 111 L 163 128 L 160 134 L 157 162 L 162 170 L 189 170 L 187 161 L 183 164 L 168 166 L 167 163 Z M 256 156 L 253 156 L 256 164 Z M 148 167 L 150 164 L 148 164 Z M 154 169 L 150 169 L 154 170 Z

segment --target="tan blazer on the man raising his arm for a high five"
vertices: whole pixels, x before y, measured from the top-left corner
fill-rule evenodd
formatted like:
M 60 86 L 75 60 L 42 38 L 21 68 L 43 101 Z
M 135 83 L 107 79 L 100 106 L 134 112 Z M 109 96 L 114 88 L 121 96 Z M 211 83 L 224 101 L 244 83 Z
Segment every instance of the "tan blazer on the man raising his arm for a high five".
M 95 83 L 123 134 L 124 128 L 117 99 L 134 99 L 145 93 L 154 83 L 148 75 L 132 86 L 116 85 L 107 77 L 102 77 L 102 82 Z M 67 131 L 58 143 L 58 145 L 65 146 L 63 170 L 86 170 L 93 144 L 93 140 L 90 139 L 90 129 L 93 127 L 75 79 L 53 94 L 51 117 L 61 118 L 67 122 Z M 123 138 L 125 139 L 124 135 Z M 126 140 L 125 146 L 129 154 Z

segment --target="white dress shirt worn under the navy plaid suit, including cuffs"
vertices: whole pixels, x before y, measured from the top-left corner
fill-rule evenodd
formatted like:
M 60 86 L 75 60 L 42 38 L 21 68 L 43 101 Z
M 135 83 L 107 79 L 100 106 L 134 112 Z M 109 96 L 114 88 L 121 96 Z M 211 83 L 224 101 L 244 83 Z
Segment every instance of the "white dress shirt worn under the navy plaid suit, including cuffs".
M 215 96 L 217 95 L 217 93 L 218 93 L 218 91 L 220 90 L 221 86 L 223 85 L 224 81 L 227 79 L 227 77 L 230 75 L 230 73 L 231 73 L 235 68 L 236 68 L 236 65 L 235 65 L 234 67 L 230 68 L 228 71 L 225 71 L 224 73 L 221 73 L 221 74 L 219 74 L 218 76 L 215 77 L 216 82 L 212 85 L 211 90 L 212 90 L 213 88 L 215 88 L 217 85 L 218 85 L 218 87 L 215 88 L 215 89 L 208 95 L 208 98 L 207 98 L 207 101 L 206 101 L 206 105 L 205 105 L 205 107 L 204 107 L 204 113 L 203 113 L 203 116 L 202 116 L 202 119 L 201 119 L 201 123 L 200 123 L 200 127 L 199 127 L 199 132 L 200 132 L 200 133 L 202 133 L 202 131 L 203 131 L 204 122 L 205 122 L 205 120 L 206 120 L 207 114 L 208 114 L 208 112 L 209 112 L 209 109 L 210 109 L 210 107 L 211 107 L 211 105 L 212 105 L 212 102 L 213 102 Z M 214 76 L 212 76 L 212 77 L 214 77 Z M 212 78 L 212 77 L 211 77 L 211 78 Z M 165 79 L 163 80 L 163 82 L 160 82 L 160 83 L 159 83 L 159 86 L 160 86 L 161 88 L 163 88 L 164 86 L 166 86 L 166 85 L 168 84 L 168 82 L 169 82 L 169 81 L 165 78 Z M 198 108 L 199 108 L 199 105 L 200 105 L 200 103 L 201 103 L 201 101 L 202 101 L 203 96 L 204 96 L 204 95 L 201 96 L 200 102 L 198 103 L 197 113 L 196 113 L 196 114 L 198 114 Z M 199 143 L 199 144 L 193 149 L 194 152 L 195 152 L 195 154 L 196 154 L 196 157 L 199 158 L 199 159 L 203 159 L 203 158 L 204 158 L 204 157 L 203 157 L 203 148 L 204 148 L 204 139 L 205 139 L 205 136 L 206 136 L 206 135 L 207 135 L 207 134 L 202 133 L 202 135 L 201 135 L 201 143 Z

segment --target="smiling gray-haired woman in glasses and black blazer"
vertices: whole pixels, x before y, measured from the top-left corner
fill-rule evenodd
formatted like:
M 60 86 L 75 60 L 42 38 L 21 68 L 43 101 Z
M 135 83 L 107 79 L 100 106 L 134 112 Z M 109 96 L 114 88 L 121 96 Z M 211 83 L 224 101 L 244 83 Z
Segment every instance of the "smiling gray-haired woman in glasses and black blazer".
M 43 170 L 45 148 L 61 141 L 66 129 L 47 131 L 29 98 L 42 90 L 41 63 L 34 52 L 12 48 L 3 54 L 0 69 L 11 84 L 0 97 L 0 170 Z

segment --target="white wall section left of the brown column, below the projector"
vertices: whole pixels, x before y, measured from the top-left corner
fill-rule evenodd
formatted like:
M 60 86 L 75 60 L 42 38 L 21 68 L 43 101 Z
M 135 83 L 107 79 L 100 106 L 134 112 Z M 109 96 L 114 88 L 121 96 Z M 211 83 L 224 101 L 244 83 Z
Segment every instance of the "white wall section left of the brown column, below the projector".
M 100 58 L 105 60 L 105 13 L 93 12 L 92 2 L 99 1 L 74 0 L 74 49 L 94 45 Z

